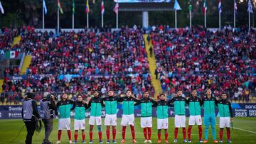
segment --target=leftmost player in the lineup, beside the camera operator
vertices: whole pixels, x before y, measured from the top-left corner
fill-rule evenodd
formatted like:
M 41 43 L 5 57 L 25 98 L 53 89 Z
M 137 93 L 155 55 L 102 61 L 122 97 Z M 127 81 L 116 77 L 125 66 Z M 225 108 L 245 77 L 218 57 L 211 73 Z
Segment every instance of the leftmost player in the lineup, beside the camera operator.
M 68 93 L 63 92 L 60 97 L 60 101 L 57 103 L 59 121 L 58 121 L 58 141 L 60 143 L 61 132 L 66 129 L 68 131 L 68 139 L 71 141 L 71 131 L 70 131 L 70 111 L 73 106 L 73 101 L 68 99 Z

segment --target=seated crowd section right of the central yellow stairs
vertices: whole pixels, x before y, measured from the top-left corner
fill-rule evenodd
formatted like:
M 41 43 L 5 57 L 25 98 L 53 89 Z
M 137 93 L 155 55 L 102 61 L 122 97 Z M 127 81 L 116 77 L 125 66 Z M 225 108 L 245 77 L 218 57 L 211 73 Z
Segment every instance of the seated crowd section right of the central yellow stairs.
M 169 96 L 176 89 L 198 89 L 203 96 L 207 87 L 217 96 L 226 92 L 230 99 L 247 102 L 250 92 L 255 94 L 255 31 L 224 28 L 213 32 L 203 27 L 174 31 L 159 26 L 150 35 L 155 74 L 159 74 L 161 88 Z

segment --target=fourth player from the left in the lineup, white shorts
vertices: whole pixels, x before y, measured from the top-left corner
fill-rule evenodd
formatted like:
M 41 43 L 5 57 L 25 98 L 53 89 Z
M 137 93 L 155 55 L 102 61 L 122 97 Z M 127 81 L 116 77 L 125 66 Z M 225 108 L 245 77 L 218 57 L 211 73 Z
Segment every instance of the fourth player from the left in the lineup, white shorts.
M 102 101 L 104 103 L 106 111 L 106 117 L 104 124 L 107 126 L 106 134 L 107 134 L 107 143 L 110 143 L 110 126 L 112 126 L 112 135 L 113 140 L 112 143 L 117 143 L 115 140 L 117 134 L 117 102 L 121 101 L 119 96 L 114 96 L 114 91 L 110 90 L 107 93 L 107 97 L 103 98 Z

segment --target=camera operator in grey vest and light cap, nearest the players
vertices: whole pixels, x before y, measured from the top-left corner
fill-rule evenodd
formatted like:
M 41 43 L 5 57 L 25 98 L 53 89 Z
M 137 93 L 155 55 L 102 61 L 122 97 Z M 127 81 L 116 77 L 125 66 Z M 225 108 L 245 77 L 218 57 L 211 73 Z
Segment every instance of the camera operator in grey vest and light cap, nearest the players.
M 45 138 L 42 144 L 52 144 L 49 141 L 50 133 L 53 131 L 53 111 L 57 111 L 55 96 L 49 92 L 43 93 L 43 99 L 40 101 L 40 116 L 45 126 Z

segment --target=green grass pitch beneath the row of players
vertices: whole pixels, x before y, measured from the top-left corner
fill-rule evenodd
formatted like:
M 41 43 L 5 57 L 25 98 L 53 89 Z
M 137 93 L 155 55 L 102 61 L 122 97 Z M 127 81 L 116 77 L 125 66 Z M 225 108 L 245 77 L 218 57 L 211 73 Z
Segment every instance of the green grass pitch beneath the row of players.
M 104 121 L 104 118 L 102 118 L 102 121 Z M 122 139 L 122 126 L 120 126 L 121 118 L 117 119 L 117 143 L 120 143 Z M 218 118 L 217 118 L 218 121 Z M 188 118 L 187 118 L 187 126 L 188 126 Z M 217 122 L 218 123 L 218 122 Z M 18 132 L 21 130 L 22 126 L 24 125 L 22 120 L 0 120 L 0 143 L 1 144 L 8 144 L 16 138 L 16 135 L 18 135 Z M 73 119 L 71 120 L 71 128 L 73 129 Z M 58 139 L 58 120 L 55 119 L 54 125 L 53 125 L 53 132 L 50 135 L 50 140 L 53 143 L 56 143 Z M 231 139 L 233 140 L 233 143 L 256 143 L 256 118 L 235 118 L 233 123 L 233 131 L 231 131 Z M 85 127 L 85 141 L 86 143 L 89 142 L 89 131 L 88 131 L 88 118 L 86 118 L 86 127 Z M 106 142 L 106 134 L 105 134 L 105 126 L 102 126 L 102 138 L 103 142 Z M 173 143 L 174 141 L 174 118 L 169 118 L 169 143 Z M 210 129 L 211 131 L 211 129 Z M 218 125 L 216 126 L 217 131 L 217 138 L 218 136 Z M 72 140 L 73 140 L 73 134 L 72 132 Z M 204 128 L 203 128 L 203 134 L 204 134 Z M 144 135 L 142 128 L 140 127 L 140 118 L 135 118 L 135 135 L 137 143 L 143 143 L 144 142 Z M 39 144 L 43 141 L 44 136 L 44 129 L 39 133 L 38 135 L 33 135 L 33 143 Z M 178 143 L 183 143 L 182 138 L 182 132 L 181 129 L 178 131 Z M 26 127 L 24 127 L 21 131 L 21 134 L 18 136 L 16 140 L 14 140 L 13 143 L 19 144 L 19 143 L 25 143 L 26 138 Z M 112 130 L 110 130 L 110 138 L 112 138 Z M 164 143 L 164 131 L 162 131 L 162 143 Z M 198 143 L 198 128 L 197 126 L 193 126 L 192 129 L 192 143 Z M 204 138 L 204 135 L 203 135 Z M 152 128 L 152 135 L 151 140 L 153 143 L 156 143 L 157 140 L 157 130 L 156 130 L 156 118 L 153 118 L 153 128 Z M 223 140 L 224 143 L 227 143 L 226 138 L 226 131 L 224 131 L 223 134 Z M 211 136 L 211 133 L 209 133 L 209 140 L 208 143 L 213 143 L 213 137 Z M 61 143 L 68 143 L 68 134 L 66 131 L 63 131 L 62 137 L 61 137 Z M 79 132 L 78 134 L 78 143 L 82 143 L 82 136 Z M 94 128 L 93 133 L 93 143 L 99 143 L 98 141 L 98 135 L 97 135 L 97 127 Z M 127 135 L 126 135 L 126 143 L 132 143 L 132 135 L 130 133 L 129 127 L 127 128 Z

